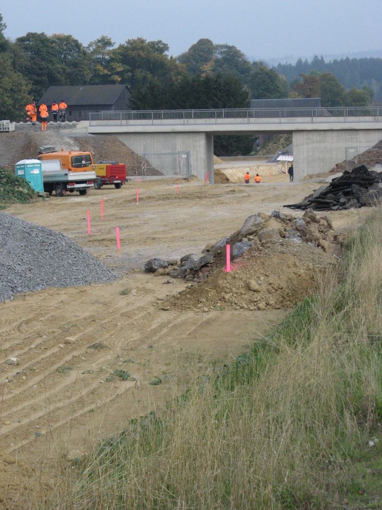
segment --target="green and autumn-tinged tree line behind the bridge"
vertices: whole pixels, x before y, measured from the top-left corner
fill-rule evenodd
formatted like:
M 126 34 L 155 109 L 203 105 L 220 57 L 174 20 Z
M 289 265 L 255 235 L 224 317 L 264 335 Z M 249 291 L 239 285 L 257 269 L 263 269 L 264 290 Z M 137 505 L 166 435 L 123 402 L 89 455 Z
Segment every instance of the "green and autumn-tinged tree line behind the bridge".
M 292 67 L 250 62 L 236 46 L 205 38 L 173 57 L 161 40 L 138 37 L 116 46 L 102 35 L 84 46 L 71 35 L 28 32 L 12 41 L 5 37 L 5 29 L 0 14 L 3 119 L 23 120 L 25 105 L 39 100 L 53 85 L 126 84 L 132 93 L 131 108 L 137 110 L 248 108 L 251 98 L 284 97 L 321 97 L 327 107 L 368 106 L 374 95 L 375 87 L 363 82 L 356 88 L 349 81 L 347 90 L 320 59 L 319 69 L 303 67 L 300 70 L 306 72 L 296 76 Z M 216 137 L 216 144 L 228 150 L 235 146 L 241 153 L 250 150 L 251 137 L 235 139 Z

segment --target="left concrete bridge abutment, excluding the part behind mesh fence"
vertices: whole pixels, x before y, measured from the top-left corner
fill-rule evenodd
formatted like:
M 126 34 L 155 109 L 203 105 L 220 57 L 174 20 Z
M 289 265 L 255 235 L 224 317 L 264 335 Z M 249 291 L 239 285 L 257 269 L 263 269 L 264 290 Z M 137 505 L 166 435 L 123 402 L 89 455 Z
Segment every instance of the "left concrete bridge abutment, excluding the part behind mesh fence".
M 113 133 L 137 154 L 190 151 L 191 173 L 214 183 L 213 135 L 205 132 Z

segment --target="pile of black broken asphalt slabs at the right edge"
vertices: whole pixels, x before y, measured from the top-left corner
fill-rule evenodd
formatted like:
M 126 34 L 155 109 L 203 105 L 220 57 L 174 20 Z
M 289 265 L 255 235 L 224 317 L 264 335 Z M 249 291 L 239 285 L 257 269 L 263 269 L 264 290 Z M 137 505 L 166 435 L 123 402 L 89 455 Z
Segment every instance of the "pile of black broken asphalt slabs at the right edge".
M 382 200 L 382 173 L 369 171 L 365 165 L 344 172 L 329 186 L 321 186 L 302 202 L 284 207 L 338 211 L 363 206 L 375 206 Z

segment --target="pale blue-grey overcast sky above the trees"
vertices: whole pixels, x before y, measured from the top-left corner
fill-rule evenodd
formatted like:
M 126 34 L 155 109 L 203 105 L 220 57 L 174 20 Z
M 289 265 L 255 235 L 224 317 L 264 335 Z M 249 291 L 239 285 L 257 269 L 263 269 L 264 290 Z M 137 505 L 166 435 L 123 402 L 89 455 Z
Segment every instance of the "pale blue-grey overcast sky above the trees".
M 71 34 L 83 44 L 161 39 L 177 56 L 200 38 L 251 59 L 382 50 L 381 0 L 3 0 L 12 40 L 27 32 Z M 289 60 L 291 60 L 291 58 Z M 294 63 L 294 62 L 293 62 Z

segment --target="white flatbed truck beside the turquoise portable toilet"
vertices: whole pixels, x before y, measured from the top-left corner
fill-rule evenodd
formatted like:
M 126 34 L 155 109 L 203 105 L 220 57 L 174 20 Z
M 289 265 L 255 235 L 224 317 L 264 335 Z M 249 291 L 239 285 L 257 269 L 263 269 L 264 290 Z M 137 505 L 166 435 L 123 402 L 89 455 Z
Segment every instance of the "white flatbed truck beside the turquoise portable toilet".
M 96 172 L 71 172 L 63 169 L 60 160 L 41 161 L 41 168 L 44 191 L 49 195 L 53 191 L 56 196 L 64 196 L 67 191 L 78 191 L 80 195 L 86 195 L 97 178 Z

